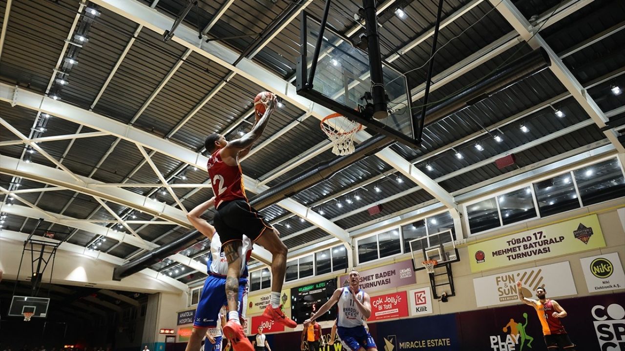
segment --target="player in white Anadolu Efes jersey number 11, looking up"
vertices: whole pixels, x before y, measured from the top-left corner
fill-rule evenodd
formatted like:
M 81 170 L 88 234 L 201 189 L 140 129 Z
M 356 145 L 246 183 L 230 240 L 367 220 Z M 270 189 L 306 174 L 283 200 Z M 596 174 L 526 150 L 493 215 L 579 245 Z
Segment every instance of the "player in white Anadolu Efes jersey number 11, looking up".
M 371 299 L 369 294 L 360 289 L 360 274 L 357 270 L 349 272 L 349 286 L 334 290 L 332 297 L 312 317 L 304 321 L 304 328 L 337 302 L 339 312 L 336 332 L 341 342 L 351 351 L 377 351 L 371 334 L 364 329 L 365 320 L 371 317 Z

